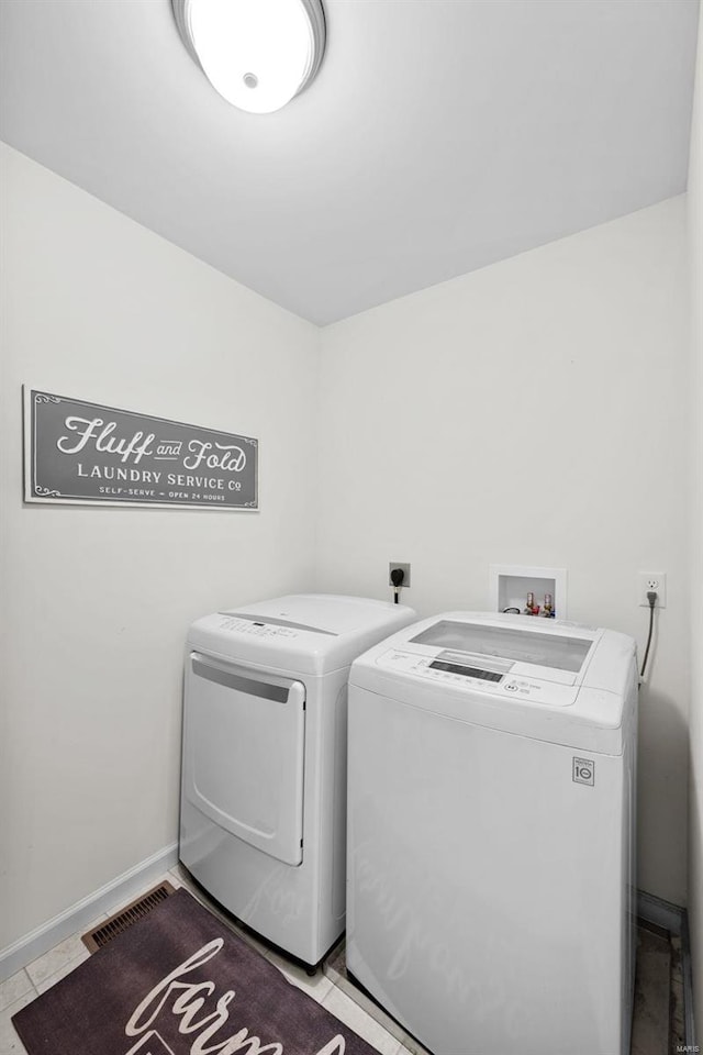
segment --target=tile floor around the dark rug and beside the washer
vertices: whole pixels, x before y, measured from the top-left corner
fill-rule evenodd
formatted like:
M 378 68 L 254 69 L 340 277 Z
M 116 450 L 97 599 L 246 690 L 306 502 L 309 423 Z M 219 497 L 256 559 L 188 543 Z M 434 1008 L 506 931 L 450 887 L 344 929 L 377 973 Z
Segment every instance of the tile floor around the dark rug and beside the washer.
M 380 1055 L 426 1055 L 425 1050 L 413 1037 L 404 1033 L 397 1023 L 387 1019 L 371 1001 L 354 989 L 344 977 L 342 959 L 338 955 L 331 956 L 325 969 L 319 970 L 314 977 L 310 978 L 301 967 L 290 964 L 282 956 L 257 942 L 250 934 L 238 931 L 232 921 L 224 918 L 217 907 L 190 881 L 188 874 L 180 866 L 161 876 L 163 879 L 168 879 L 175 887 L 187 887 L 198 900 L 232 926 L 244 941 L 258 948 L 267 959 L 276 964 L 290 981 L 304 989 L 355 1030 Z M 155 882 L 161 880 L 155 880 Z M 155 886 L 155 882 L 150 882 L 145 890 Z M 116 912 L 120 908 L 120 904 L 115 904 L 112 911 Z M 88 959 L 90 954 L 82 944 L 80 935 L 105 919 L 108 913 L 99 917 L 91 926 L 85 928 L 80 933 L 67 937 L 0 985 L 0 1055 L 23 1055 L 23 1053 L 26 1055 L 10 1021 L 12 1015 L 34 1000 L 38 993 L 49 989 L 60 978 L 70 974 L 82 960 Z M 656 929 L 655 932 L 639 931 L 632 1055 L 667 1055 L 674 1050 L 673 1042 L 681 1040 L 678 1036 L 682 1024 L 678 956 L 676 940 L 670 945 L 662 933 L 656 933 Z M 669 986 L 669 977 L 671 977 L 671 986 Z M 350 993 L 354 993 L 354 999 Z

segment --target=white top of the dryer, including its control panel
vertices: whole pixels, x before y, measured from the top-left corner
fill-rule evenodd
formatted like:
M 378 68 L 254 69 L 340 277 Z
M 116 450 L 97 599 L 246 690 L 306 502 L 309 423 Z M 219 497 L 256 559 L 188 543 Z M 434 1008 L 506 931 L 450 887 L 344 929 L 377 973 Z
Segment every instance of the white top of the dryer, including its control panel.
M 188 644 L 226 659 L 322 675 L 416 618 L 404 604 L 333 593 L 294 593 L 197 620 Z

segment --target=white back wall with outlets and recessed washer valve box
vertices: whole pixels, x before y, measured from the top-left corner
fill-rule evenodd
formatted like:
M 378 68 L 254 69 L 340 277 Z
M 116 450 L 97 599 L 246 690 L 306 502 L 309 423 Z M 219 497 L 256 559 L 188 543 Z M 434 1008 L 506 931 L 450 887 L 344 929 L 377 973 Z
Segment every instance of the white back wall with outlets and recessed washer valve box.
M 569 615 L 641 643 L 639 886 L 685 898 L 685 213 L 673 199 L 323 331 L 319 586 L 484 608 L 490 564 L 565 567 Z

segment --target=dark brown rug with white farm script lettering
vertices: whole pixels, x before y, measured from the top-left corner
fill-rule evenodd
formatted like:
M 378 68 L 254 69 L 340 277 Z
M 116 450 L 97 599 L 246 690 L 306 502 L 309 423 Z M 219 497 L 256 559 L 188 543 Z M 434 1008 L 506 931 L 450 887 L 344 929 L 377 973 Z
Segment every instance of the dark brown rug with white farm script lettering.
M 375 1055 L 186 890 L 12 1022 L 30 1055 Z

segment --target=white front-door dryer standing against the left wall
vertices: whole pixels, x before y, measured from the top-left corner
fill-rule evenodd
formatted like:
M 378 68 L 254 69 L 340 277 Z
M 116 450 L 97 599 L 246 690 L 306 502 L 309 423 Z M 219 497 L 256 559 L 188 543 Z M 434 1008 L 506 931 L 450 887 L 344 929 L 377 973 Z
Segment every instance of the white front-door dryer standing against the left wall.
M 297 595 L 188 635 L 180 859 L 306 964 L 344 929 L 349 664 L 413 619 L 403 604 Z

